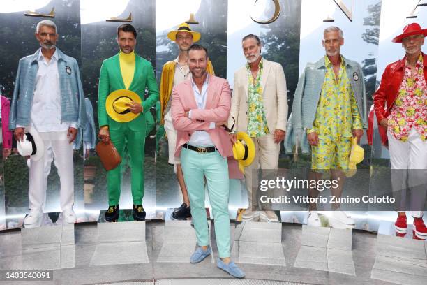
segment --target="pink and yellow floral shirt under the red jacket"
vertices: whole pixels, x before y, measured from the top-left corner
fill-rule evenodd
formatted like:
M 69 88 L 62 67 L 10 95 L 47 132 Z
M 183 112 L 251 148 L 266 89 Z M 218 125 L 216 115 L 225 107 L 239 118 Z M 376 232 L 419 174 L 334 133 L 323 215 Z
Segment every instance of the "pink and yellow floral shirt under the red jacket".
M 394 138 L 407 141 L 414 127 L 425 141 L 427 136 L 427 86 L 424 78 L 423 57 L 419 56 L 415 64 L 415 75 L 411 75 L 411 66 L 405 63 L 405 71 L 399 93 L 387 117 L 387 131 Z

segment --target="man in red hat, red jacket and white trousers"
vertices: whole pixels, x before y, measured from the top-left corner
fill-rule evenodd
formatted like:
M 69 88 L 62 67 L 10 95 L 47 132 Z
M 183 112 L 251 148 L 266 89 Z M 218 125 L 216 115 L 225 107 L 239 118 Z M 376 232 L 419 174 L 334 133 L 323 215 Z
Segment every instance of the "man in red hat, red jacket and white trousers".
M 427 238 L 423 221 L 427 184 L 427 55 L 421 52 L 426 36 L 427 29 L 412 23 L 393 39 L 394 43 L 402 43 L 406 54 L 385 68 L 374 96 L 377 121 L 387 130 L 389 140 L 391 187 L 398 200 L 396 232 L 405 235 L 407 231 L 403 211 L 405 189 L 409 188 L 414 239 L 421 240 Z

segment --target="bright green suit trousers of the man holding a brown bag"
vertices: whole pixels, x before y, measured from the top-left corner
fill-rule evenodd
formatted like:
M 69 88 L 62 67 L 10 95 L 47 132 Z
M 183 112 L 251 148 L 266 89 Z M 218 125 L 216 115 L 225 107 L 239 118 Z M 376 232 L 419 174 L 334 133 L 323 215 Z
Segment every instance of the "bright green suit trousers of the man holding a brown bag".
M 144 197 L 145 130 L 133 131 L 129 129 L 128 123 L 123 123 L 119 130 L 110 130 L 110 138 L 121 157 L 126 152 L 128 153 L 133 204 L 142 205 L 142 198 Z M 117 168 L 107 172 L 109 206 L 119 205 L 121 167 L 122 163 Z

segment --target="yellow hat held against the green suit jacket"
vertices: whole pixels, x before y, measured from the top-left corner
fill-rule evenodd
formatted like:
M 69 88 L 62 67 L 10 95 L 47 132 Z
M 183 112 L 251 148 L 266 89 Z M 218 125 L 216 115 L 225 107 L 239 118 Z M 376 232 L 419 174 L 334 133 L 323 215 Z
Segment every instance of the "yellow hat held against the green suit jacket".
M 110 118 L 114 119 L 114 121 L 121 123 L 130 122 L 140 115 L 130 112 L 126 104 L 132 102 L 142 103 L 141 97 L 135 92 L 127 89 L 113 91 L 107 96 L 107 100 L 105 101 L 107 114 Z

